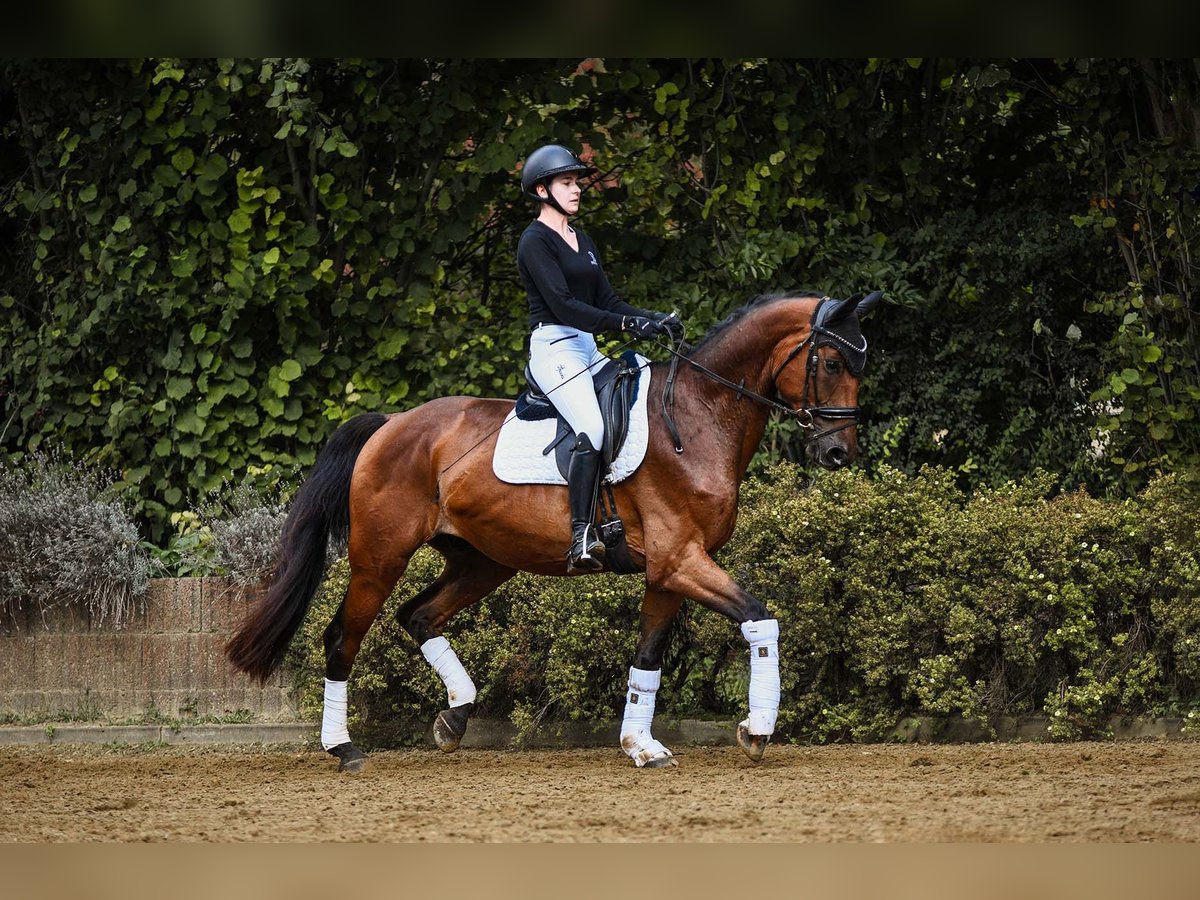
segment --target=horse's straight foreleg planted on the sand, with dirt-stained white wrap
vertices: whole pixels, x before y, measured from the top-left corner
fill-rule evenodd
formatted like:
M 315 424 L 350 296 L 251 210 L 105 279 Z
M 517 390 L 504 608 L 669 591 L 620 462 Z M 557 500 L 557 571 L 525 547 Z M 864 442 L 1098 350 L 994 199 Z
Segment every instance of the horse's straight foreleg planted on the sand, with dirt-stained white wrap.
M 654 701 L 662 682 L 662 656 L 671 635 L 671 623 L 679 612 L 683 598 L 647 588 L 642 600 L 642 632 L 637 655 L 629 670 L 629 694 L 625 696 L 625 718 L 620 724 L 620 746 L 638 768 L 656 769 L 674 766 L 674 756 L 650 733 Z

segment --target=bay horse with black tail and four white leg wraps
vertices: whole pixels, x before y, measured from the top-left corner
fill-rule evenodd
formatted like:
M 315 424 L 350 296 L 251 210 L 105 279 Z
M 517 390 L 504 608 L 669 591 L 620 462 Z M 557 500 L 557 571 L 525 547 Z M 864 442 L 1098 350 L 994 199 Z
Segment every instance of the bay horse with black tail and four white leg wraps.
M 798 419 L 810 461 L 836 469 L 857 456 L 866 352 L 858 317 L 878 300 L 878 292 L 847 300 L 761 296 L 689 353 L 672 350 L 670 364 L 652 364 L 646 457 L 614 486 L 630 556 L 646 572 L 622 726 L 622 746 L 638 767 L 674 764 L 650 724 L 667 636 L 684 598 L 732 619 L 750 644 L 750 715 L 737 739 L 750 758 L 762 758 L 779 709 L 778 623 L 712 554 L 733 533 L 738 486 L 772 410 Z M 449 709 L 433 728 L 445 751 L 466 733 L 475 688 L 443 628 L 518 570 L 568 574 L 566 491 L 505 484 L 492 472 L 497 432 L 512 409 L 510 400 L 443 397 L 403 413 L 364 413 L 332 434 L 296 493 L 266 594 L 227 654 L 236 668 L 265 680 L 322 583 L 328 540 L 348 536 L 350 582 L 324 632 L 322 744 L 340 770 L 358 772 L 366 761 L 346 730 L 354 658 L 419 547 L 436 548 L 445 568 L 397 618 L 446 684 Z

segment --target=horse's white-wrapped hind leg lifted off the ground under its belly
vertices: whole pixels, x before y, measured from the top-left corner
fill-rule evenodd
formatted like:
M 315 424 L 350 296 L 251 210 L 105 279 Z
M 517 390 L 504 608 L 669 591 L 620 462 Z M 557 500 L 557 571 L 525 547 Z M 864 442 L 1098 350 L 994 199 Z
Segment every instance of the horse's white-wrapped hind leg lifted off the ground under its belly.
M 445 569 L 432 584 L 400 607 L 396 619 L 446 685 L 449 709 L 438 713 L 433 739 L 449 754 L 458 748 L 467 733 L 467 719 L 475 708 L 475 685 L 450 642 L 442 636 L 442 629 L 456 612 L 511 578 L 515 570 L 490 559 L 460 538 L 440 536 L 430 544 L 445 557 Z

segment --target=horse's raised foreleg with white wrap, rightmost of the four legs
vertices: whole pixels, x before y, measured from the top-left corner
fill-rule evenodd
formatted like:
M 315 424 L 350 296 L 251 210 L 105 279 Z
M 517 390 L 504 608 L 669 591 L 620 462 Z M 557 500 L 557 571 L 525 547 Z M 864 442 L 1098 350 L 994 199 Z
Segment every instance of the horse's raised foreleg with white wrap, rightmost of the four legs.
M 690 596 L 742 626 L 750 644 L 750 715 L 738 725 L 738 745 L 757 762 L 779 718 L 779 622 L 700 547 L 661 570 L 648 569 L 647 582 Z

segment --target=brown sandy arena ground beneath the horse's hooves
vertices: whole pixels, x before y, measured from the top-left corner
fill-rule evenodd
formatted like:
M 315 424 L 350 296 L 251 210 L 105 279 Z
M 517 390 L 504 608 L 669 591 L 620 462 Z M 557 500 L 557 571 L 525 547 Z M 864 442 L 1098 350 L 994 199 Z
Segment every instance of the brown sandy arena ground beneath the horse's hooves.
M 0 752 L 0 841 L 1196 841 L 1200 743 Z M 336 824 L 335 824 L 336 823 Z

